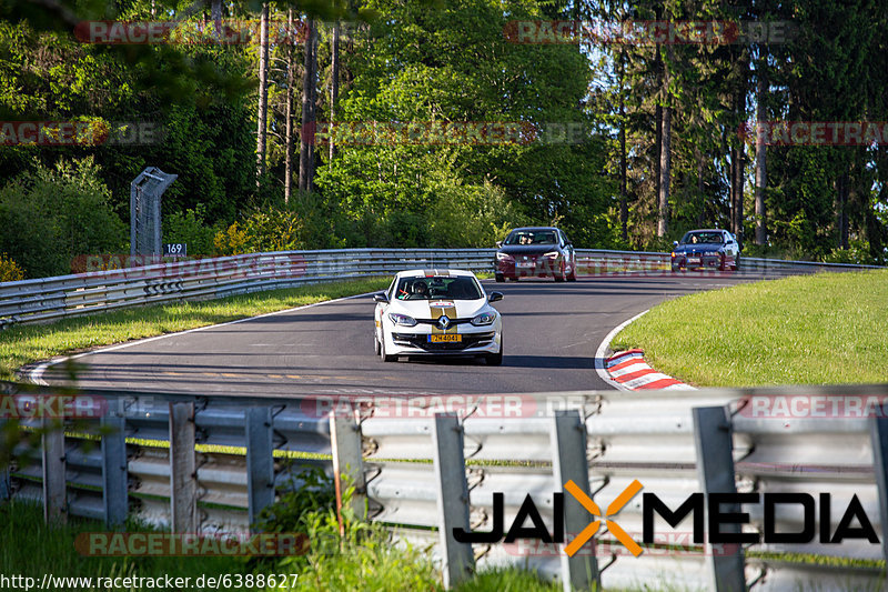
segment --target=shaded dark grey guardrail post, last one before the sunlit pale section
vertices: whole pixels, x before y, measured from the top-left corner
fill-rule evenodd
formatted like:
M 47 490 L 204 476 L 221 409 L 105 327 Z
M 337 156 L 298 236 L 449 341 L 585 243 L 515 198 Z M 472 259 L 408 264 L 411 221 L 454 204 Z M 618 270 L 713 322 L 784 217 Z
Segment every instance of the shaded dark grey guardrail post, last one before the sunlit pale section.
M 271 408 L 251 407 L 246 419 L 246 499 L 250 529 L 262 509 L 274 503 L 274 432 Z

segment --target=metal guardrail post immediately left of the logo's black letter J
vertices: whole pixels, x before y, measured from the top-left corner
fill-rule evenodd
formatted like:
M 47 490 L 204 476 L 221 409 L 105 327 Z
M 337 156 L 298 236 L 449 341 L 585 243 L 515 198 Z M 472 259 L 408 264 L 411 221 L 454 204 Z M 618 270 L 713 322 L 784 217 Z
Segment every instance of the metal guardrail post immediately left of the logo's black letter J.
M 465 479 L 463 427 L 455 413 L 435 413 L 432 425 L 437 485 L 438 535 L 444 560 L 444 588 L 467 580 L 475 569 L 470 543 L 460 543 L 453 529 L 468 532 L 468 483 Z

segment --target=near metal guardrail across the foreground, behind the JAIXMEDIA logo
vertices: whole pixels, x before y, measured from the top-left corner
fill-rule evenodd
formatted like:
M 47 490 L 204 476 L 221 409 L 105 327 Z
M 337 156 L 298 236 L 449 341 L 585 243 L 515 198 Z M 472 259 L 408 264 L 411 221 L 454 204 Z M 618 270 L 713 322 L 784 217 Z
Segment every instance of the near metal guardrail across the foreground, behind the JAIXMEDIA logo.
M 7 411 L 44 409 L 22 405 L 59 394 L 4 390 Z M 320 463 L 349 475 L 370 519 L 428 544 L 448 584 L 475 564 L 605 589 L 878 590 L 886 581 L 888 385 L 273 401 L 90 390 L 71 401 L 65 409 L 81 420 L 67 433 L 24 421 L 47 428 L 41 454 L 16 451 L 0 498 L 44 500 L 50 516 L 117 524 L 129 512 L 174 532 L 241 532 L 275 491 L 299 486 L 287 484 L 295 466 Z M 642 489 L 614 509 L 636 480 Z M 552 535 L 563 524 L 566 543 L 583 532 L 596 516 L 567 481 L 612 521 L 572 558 L 538 540 L 532 515 Z M 753 494 L 722 509 L 748 516 L 728 515 L 720 532 L 785 536 L 739 546 L 699 540 L 697 519 L 697 530 L 713 533 L 703 501 L 669 526 L 648 499 L 678 512 L 695 494 L 719 493 Z M 784 498 L 771 511 L 774 494 Z M 648 513 L 654 536 L 634 556 L 620 532 L 642 543 Z M 528 530 L 512 542 L 491 535 L 470 545 L 453 534 L 508 531 L 519 514 Z

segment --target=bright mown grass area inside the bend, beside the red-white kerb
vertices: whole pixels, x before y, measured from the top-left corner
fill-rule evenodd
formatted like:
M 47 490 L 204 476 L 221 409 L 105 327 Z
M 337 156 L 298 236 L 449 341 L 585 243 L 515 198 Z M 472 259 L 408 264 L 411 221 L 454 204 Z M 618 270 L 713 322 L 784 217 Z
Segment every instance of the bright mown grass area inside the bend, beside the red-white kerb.
M 735 285 L 655 307 L 614 350 L 702 387 L 885 382 L 888 271 Z

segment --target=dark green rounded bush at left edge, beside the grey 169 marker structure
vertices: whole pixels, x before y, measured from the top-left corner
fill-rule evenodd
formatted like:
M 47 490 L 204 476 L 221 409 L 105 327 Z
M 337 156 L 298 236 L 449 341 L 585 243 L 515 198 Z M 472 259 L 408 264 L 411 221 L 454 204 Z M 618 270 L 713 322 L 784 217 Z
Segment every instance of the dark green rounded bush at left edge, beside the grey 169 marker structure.
M 37 163 L 0 189 L 0 252 L 31 278 L 70 273 L 78 254 L 120 252 L 127 227 L 92 158 Z

